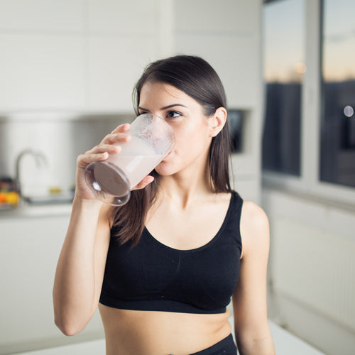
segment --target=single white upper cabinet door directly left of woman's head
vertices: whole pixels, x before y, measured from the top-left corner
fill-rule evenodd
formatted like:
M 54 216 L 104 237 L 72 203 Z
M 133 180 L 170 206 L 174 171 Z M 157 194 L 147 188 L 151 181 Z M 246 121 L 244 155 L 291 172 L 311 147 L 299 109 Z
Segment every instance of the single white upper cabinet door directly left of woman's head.
M 153 36 L 90 35 L 87 46 L 87 109 L 133 112 L 133 86 L 155 59 Z

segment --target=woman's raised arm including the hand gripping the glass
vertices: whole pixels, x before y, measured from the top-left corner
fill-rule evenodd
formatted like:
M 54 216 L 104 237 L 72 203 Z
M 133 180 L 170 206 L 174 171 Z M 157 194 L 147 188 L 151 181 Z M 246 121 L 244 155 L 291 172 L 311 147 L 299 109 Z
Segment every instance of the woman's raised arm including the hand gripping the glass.
M 67 335 L 77 334 L 94 315 L 104 278 L 109 248 L 111 206 L 94 198 L 84 180 L 84 170 L 94 161 L 105 160 L 109 153 L 119 153 L 116 143 L 129 140 L 124 124 L 103 141 L 79 155 L 75 197 L 67 235 L 58 260 L 53 287 L 55 324 Z M 152 182 L 147 176 L 136 188 Z

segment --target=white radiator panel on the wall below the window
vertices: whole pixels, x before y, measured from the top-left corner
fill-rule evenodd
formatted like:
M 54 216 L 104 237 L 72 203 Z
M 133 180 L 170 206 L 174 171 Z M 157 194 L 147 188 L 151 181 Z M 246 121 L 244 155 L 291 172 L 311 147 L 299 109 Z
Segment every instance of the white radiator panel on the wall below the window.
M 273 290 L 355 330 L 355 241 L 290 219 L 271 225 Z

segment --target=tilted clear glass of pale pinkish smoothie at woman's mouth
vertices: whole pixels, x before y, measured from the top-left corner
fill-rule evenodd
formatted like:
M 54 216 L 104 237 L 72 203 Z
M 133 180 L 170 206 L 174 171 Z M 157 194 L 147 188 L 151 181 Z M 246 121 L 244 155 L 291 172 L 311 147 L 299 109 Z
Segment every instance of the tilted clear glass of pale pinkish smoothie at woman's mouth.
M 121 151 L 107 160 L 87 165 L 85 181 L 97 199 L 113 206 L 129 201 L 131 189 L 172 151 L 173 129 L 160 116 L 141 114 L 131 124 L 129 142 L 117 143 Z

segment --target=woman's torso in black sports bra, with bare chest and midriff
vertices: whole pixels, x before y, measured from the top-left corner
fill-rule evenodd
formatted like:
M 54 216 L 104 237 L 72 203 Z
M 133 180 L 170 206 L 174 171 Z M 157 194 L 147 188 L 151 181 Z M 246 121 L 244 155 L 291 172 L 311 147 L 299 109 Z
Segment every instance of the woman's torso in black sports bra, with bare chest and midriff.
M 185 216 L 162 206 L 136 249 L 126 246 L 122 254 L 111 239 L 99 305 L 107 354 L 192 354 L 228 336 L 225 305 L 238 279 L 241 204 L 234 193 L 220 194 Z M 175 268 L 165 272 L 173 259 Z M 115 303 L 114 297 L 124 300 Z

